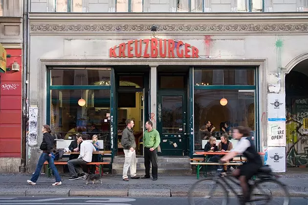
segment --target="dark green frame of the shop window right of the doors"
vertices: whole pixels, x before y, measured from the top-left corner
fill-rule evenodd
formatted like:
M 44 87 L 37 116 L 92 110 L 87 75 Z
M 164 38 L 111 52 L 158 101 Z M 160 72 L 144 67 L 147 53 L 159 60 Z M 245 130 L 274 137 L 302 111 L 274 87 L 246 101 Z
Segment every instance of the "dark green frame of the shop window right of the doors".
M 211 70 L 214 70 L 215 67 L 212 68 L 208 68 Z M 258 72 L 258 67 L 244 67 L 242 69 L 249 69 L 249 70 L 254 70 L 254 85 L 195 85 L 194 82 L 194 77 L 192 79 L 193 81 L 193 85 L 194 85 L 194 91 L 195 90 L 254 90 L 255 92 L 255 142 L 256 142 L 256 148 L 258 149 L 258 151 L 260 151 L 261 147 L 261 140 L 260 140 L 260 123 L 259 123 L 259 106 L 258 106 L 258 99 L 259 99 L 259 89 L 258 89 L 258 83 L 259 83 L 259 72 Z M 195 70 L 200 70 L 200 68 L 197 69 L 193 69 L 193 73 Z M 237 70 L 241 70 L 241 69 L 237 69 Z M 194 98 L 194 94 L 193 94 L 193 98 Z M 194 101 L 195 102 L 195 101 Z M 192 112 L 194 112 L 194 110 L 192 110 Z M 195 114 L 194 114 L 195 116 Z M 195 127 L 195 120 L 194 120 L 194 125 L 193 127 Z M 194 135 L 196 133 L 196 130 L 194 130 Z M 191 140 L 191 142 L 194 142 L 194 137 Z M 195 142 L 192 144 L 192 146 L 190 147 L 194 150 L 195 152 Z

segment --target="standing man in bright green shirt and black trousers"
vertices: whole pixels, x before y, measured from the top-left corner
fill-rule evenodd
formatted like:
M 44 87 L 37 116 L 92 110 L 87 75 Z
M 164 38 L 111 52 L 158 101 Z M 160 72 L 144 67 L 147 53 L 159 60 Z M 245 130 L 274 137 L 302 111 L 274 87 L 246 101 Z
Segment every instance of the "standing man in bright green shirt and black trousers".
M 147 121 L 145 124 L 147 131 L 143 134 L 144 146 L 144 166 L 146 168 L 145 176 L 142 179 L 150 178 L 150 162 L 152 164 L 153 181 L 157 180 L 157 147 L 160 143 L 160 136 L 157 130 L 153 128 L 153 123 Z

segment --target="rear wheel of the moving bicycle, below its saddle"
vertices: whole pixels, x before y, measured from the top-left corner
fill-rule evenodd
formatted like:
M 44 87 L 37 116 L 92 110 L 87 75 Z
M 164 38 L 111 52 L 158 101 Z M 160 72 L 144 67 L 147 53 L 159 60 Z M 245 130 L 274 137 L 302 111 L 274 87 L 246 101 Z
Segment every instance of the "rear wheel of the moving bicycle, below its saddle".
M 251 189 L 252 205 L 288 205 L 289 192 L 286 185 L 275 179 L 264 179 Z

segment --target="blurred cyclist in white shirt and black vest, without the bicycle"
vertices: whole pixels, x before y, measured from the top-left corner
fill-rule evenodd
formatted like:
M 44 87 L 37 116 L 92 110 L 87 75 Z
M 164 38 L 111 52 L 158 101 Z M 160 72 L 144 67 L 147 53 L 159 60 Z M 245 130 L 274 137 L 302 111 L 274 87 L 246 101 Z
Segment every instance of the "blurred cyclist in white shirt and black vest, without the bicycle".
M 242 154 L 248 160 L 247 163 L 239 166 L 239 168 L 232 173 L 233 176 L 239 178 L 242 187 L 243 197 L 241 199 L 241 205 L 245 205 L 250 198 L 248 180 L 250 180 L 263 165 L 261 157 L 256 151 L 250 137 L 250 132 L 251 129 L 249 127 L 238 126 L 234 128 L 232 137 L 239 140 L 239 143 L 234 149 L 230 150 L 228 154 L 220 159 L 221 162 L 228 162 L 235 156 Z

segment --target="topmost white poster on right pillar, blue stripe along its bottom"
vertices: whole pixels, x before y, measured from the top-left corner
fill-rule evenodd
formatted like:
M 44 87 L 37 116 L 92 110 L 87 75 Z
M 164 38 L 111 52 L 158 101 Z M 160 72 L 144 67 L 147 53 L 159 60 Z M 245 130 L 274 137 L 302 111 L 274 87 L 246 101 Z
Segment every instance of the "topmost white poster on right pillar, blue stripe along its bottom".
M 285 94 L 269 93 L 267 111 L 268 121 L 286 121 Z

